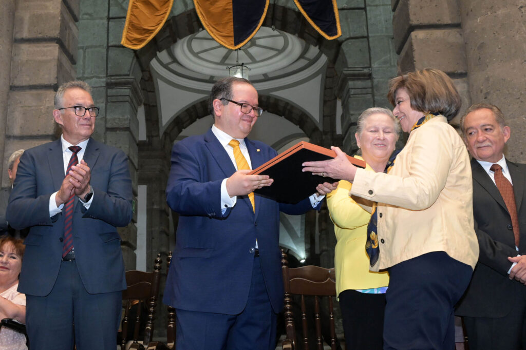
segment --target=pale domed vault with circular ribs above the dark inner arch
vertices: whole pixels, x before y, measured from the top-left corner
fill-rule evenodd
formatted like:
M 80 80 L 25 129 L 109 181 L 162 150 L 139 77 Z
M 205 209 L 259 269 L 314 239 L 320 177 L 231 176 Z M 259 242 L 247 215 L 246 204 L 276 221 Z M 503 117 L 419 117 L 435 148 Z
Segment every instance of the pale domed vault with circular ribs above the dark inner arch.
M 157 96 L 159 135 L 169 130 L 171 140 L 177 137 L 174 132 L 181 129 L 171 123 L 188 125 L 188 114 L 196 109 L 191 105 L 208 97 L 214 81 L 227 75 L 227 66 L 236 64 L 236 56 L 235 52 L 211 40 L 208 33 L 198 32 L 179 40 L 151 60 L 149 67 Z M 260 101 L 261 107 L 284 116 L 301 128 L 308 126 L 304 130 L 308 134 L 322 129 L 325 55 L 290 34 L 264 27 L 247 48 L 242 49 L 240 56 L 240 60 L 252 67 L 250 80 L 260 96 L 269 96 Z M 309 96 L 300 91 L 309 91 Z M 276 103 L 276 99 L 282 102 Z M 266 101 L 273 102 L 267 105 Z M 301 112 L 289 115 L 292 109 Z M 197 110 L 208 115 L 206 109 Z M 307 121 L 300 120 L 299 115 Z M 195 115 L 194 119 L 201 117 L 203 115 Z M 184 122 L 179 118 L 184 118 Z

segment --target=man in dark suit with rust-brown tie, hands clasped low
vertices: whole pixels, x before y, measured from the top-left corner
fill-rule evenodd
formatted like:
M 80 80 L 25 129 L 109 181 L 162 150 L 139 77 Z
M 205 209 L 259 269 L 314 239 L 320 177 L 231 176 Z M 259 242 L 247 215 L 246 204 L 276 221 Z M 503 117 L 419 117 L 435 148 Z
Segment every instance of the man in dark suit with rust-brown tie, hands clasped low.
M 526 165 L 504 157 L 511 130 L 497 106 L 471 106 L 461 127 L 473 157 L 473 215 L 480 255 L 457 314 L 464 316 L 471 350 L 525 349 Z M 507 204 L 497 188 L 500 171 L 512 184 L 518 220 L 510 214 L 513 201 Z

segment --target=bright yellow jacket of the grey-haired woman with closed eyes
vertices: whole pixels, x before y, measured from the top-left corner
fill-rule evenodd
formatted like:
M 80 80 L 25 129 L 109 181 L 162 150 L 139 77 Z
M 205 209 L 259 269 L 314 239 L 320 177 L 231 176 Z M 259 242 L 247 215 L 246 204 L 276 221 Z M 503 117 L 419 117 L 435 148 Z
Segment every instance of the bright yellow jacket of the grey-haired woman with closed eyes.
M 355 158 L 362 159 L 359 156 Z M 369 165 L 367 170 L 373 171 Z M 348 289 L 370 289 L 389 284 L 387 271 L 369 271 L 365 242 L 371 214 L 349 197 L 351 186 L 350 182 L 341 180 L 338 188 L 327 195 L 327 206 L 338 241 L 334 253 L 336 295 Z M 371 206 L 372 202 L 368 204 Z

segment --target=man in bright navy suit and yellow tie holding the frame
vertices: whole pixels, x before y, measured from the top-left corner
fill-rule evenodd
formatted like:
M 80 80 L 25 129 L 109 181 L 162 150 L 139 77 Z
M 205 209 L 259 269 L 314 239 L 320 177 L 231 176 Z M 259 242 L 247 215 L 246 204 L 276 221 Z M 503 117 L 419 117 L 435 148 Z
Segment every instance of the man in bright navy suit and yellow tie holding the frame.
M 337 183 L 294 205 L 252 197 L 273 180 L 249 175 L 239 158 L 255 169 L 276 156 L 265 143 L 247 139 L 262 113 L 258 93 L 246 79 L 223 78 L 212 88 L 209 108 L 214 126 L 174 145 L 166 189 L 170 208 L 180 214 L 164 295 L 176 308 L 176 347 L 274 349 L 283 303 L 279 212 L 319 208 Z M 242 157 L 239 150 L 236 157 L 237 143 Z

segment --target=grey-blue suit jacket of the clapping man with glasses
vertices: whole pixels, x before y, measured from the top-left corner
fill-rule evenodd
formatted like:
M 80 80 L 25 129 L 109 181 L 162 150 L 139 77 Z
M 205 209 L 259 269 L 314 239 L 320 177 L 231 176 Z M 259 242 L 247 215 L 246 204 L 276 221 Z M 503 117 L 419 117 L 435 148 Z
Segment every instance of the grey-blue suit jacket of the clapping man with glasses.
M 90 138 L 83 158 L 91 169 L 93 201 L 79 200 L 73 213 L 77 269 L 88 293 L 126 289 L 120 236 L 116 227 L 131 220 L 132 190 L 125 153 Z M 49 197 L 60 189 L 64 164 L 60 139 L 28 149 L 20 158 L 7 221 L 29 227 L 18 284 L 21 293 L 46 296 L 57 279 L 64 237 L 64 213 L 49 217 Z

